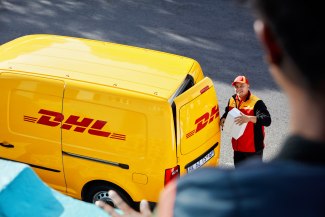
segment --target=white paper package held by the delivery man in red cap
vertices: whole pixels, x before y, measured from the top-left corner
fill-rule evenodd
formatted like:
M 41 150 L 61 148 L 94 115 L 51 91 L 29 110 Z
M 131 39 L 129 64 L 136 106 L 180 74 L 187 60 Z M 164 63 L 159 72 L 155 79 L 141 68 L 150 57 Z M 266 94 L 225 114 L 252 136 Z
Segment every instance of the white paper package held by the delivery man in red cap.
M 241 135 L 243 135 L 247 125 L 247 123 L 242 125 L 235 124 L 235 118 L 238 116 L 240 116 L 240 111 L 237 108 L 231 109 L 227 114 L 227 118 L 223 126 L 223 132 L 230 134 L 234 139 L 238 139 L 241 137 Z

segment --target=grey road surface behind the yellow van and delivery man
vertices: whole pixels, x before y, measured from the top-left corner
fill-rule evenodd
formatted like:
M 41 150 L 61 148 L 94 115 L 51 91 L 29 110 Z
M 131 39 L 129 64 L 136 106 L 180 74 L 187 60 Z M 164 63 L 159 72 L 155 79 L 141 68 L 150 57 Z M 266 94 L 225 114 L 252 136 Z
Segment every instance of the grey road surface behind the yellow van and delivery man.
M 221 113 L 245 74 L 267 105 L 265 161 L 288 133 L 288 102 L 268 73 L 248 8 L 234 0 L 0 0 L 0 44 L 48 33 L 110 41 L 196 59 L 214 80 Z M 230 137 L 222 136 L 221 165 L 231 167 Z

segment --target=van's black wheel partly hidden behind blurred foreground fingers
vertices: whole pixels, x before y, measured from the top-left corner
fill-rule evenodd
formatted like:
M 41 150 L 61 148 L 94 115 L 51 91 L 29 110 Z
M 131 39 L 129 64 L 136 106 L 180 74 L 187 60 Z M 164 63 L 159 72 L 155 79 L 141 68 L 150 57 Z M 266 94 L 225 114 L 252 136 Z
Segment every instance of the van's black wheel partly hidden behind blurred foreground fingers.
M 126 195 L 124 192 L 114 186 L 105 184 L 91 186 L 88 191 L 85 192 L 85 197 L 83 200 L 89 203 L 95 203 L 97 200 L 102 200 L 112 207 L 117 208 L 113 200 L 108 196 L 109 190 L 114 190 L 130 207 L 134 208 L 134 203 L 130 196 Z

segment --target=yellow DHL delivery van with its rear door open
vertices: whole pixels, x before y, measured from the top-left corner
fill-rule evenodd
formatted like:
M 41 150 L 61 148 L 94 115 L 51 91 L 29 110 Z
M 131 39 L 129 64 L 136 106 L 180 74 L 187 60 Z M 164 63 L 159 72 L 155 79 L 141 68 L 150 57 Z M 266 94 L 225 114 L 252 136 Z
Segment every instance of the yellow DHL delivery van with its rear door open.
M 0 46 L 0 158 L 88 202 L 157 202 L 172 179 L 218 165 L 214 85 L 193 59 L 56 35 Z

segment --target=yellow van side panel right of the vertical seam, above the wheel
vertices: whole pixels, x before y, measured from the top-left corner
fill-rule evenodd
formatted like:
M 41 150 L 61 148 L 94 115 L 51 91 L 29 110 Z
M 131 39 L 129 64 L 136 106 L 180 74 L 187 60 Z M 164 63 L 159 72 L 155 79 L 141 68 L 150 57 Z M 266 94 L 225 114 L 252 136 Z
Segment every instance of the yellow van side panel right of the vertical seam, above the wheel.
M 147 96 L 148 97 L 148 96 Z M 157 201 L 175 166 L 170 105 L 130 91 L 68 82 L 62 122 L 68 193 L 81 198 L 94 180 L 114 183 L 135 201 Z

